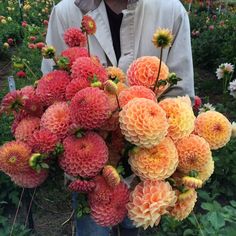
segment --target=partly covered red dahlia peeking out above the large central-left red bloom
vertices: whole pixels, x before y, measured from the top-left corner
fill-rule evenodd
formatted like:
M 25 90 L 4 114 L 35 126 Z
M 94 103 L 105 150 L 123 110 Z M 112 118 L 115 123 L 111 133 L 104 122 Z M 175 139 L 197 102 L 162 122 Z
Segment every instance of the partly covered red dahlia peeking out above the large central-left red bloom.
M 90 82 L 85 78 L 77 78 L 71 80 L 66 87 L 66 99 L 71 100 L 77 92 L 80 90 L 90 87 Z

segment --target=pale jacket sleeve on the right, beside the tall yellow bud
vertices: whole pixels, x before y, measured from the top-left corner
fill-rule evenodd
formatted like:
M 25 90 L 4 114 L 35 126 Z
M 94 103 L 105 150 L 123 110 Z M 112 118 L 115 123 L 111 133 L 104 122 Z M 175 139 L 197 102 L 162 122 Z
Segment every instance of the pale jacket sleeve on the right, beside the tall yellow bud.
M 167 56 L 170 72 L 175 72 L 182 81 L 173 86 L 164 97 L 189 95 L 194 99 L 193 61 L 190 25 L 185 9 L 177 17 L 173 28 L 174 41 Z

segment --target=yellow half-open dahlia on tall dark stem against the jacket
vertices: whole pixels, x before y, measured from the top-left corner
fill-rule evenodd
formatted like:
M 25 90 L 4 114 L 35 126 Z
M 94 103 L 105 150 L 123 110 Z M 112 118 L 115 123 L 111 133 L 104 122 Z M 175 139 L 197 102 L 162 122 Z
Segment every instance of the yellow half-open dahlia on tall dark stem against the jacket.
M 152 42 L 157 48 L 170 47 L 172 41 L 173 35 L 168 29 L 157 29 L 152 38 Z

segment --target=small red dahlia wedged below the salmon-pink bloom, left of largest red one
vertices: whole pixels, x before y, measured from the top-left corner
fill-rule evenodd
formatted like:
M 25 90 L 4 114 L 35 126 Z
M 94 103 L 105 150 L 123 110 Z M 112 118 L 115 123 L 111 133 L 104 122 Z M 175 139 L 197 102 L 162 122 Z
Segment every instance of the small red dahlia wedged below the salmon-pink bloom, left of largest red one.
M 49 153 L 56 147 L 58 138 L 48 130 L 36 130 L 28 140 L 34 153 Z

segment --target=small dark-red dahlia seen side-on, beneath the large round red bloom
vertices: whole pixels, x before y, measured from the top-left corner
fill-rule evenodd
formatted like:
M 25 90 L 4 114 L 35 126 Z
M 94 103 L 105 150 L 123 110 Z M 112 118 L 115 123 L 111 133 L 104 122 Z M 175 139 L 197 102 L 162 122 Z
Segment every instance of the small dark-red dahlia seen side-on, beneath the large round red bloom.
M 90 180 L 80 180 L 77 179 L 70 183 L 68 188 L 73 192 L 91 192 L 95 188 L 96 184 L 94 181 Z

